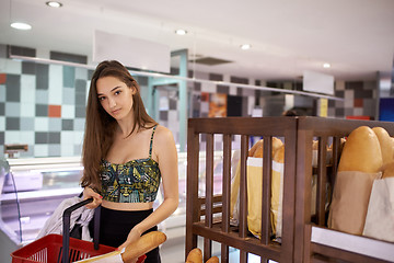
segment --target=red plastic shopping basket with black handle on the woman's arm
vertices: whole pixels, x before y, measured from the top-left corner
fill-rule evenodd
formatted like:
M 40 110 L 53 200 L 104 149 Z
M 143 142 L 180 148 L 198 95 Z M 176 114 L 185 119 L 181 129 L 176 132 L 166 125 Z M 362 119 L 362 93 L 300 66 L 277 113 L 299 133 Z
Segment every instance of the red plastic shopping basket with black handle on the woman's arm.
M 99 244 L 99 227 L 100 215 L 95 216 L 94 242 L 89 242 L 76 238 L 70 238 L 70 216 L 71 213 L 85 204 L 92 202 L 93 198 L 82 201 L 67 208 L 62 216 L 63 236 L 47 235 L 14 252 L 11 253 L 12 263 L 39 262 L 39 263 L 65 263 L 90 259 L 92 256 L 106 254 L 115 251 L 113 247 Z M 96 211 L 100 213 L 100 209 Z M 138 263 L 142 263 L 147 256 L 142 255 L 138 259 Z

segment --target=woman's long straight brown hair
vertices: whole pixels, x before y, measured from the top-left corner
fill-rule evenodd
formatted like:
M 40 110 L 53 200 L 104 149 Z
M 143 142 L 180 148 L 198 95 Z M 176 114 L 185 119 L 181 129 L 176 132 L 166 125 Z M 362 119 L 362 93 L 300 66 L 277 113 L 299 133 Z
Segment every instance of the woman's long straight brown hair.
M 99 176 L 100 163 L 104 159 L 114 141 L 114 134 L 117 122 L 105 112 L 97 98 L 96 82 L 103 77 L 115 77 L 135 89 L 132 95 L 134 127 L 135 129 L 151 128 L 158 123 L 151 118 L 144 110 L 140 94 L 140 87 L 131 77 L 130 72 L 116 60 L 105 60 L 99 64 L 93 72 L 86 105 L 85 133 L 82 148 L 82 163 L 84 172 L 81 179 L 81 186 L 92 186 L 101 190 Z

